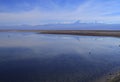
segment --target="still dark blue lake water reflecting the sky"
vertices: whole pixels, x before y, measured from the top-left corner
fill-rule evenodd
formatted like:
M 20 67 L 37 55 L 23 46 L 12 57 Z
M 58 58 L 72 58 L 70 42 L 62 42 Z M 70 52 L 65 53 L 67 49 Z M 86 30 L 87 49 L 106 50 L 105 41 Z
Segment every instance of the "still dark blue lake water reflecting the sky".
M 91 82 L 120 67 L 120 38 L 0 33 L 0 82 Z

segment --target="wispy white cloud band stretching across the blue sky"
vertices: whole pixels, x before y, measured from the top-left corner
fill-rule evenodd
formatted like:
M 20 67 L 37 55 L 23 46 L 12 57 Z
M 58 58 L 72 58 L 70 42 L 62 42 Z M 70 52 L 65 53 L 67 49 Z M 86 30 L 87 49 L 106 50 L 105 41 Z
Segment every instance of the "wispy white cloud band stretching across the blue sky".
M 53 5 L 55 6 L 55 4 Z M 120 21 L 119 15 L 107 16 L 107 14 L 120 12 L 119 7 L 120 5 L 117 0 L 105 1 L 104 3 L 89 0 L 72 11 L 66 9 L 42 11 L 35 8 L 31 11 L 21 13 L 0 13 L 0 22 L 9 24 L 42 24 L 46 20 L 61 20 L 63 22 L 67 22 L 64 20 L 118 22 Z M 47 21 L 46 23 L 49 22 L 51 21 Z

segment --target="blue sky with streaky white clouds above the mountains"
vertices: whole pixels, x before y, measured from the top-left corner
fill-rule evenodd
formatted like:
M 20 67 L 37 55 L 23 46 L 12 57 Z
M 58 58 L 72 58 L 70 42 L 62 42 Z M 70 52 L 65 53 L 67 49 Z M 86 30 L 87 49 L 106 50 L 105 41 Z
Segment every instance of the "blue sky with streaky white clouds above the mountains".
M 0 25 L 120 23 L 120 0 L 0 0 Z

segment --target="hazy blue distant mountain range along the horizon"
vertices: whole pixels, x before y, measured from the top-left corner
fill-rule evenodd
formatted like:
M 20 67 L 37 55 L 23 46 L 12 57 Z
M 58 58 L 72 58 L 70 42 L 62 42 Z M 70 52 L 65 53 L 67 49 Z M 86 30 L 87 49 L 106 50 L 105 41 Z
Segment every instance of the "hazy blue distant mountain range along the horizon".
M 79 21 L 71 24 L 45 24 L 45 25 L 19 25 L 19 26 L 0 26 L 0 29 L 22 29 L 22 30 L 120 30 L 120 24 L 103 23 L 80 23 Z

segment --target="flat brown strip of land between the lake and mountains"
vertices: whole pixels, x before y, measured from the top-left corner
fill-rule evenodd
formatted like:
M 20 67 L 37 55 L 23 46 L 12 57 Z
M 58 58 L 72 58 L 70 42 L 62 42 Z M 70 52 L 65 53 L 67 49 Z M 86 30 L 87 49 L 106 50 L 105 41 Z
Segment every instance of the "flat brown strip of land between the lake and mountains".
M 38 34 L 67 34 L 120 37 L 120 30 L 0 30 L 0 32 L 35 32 Z

